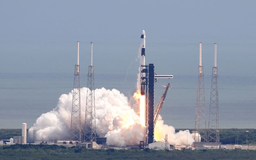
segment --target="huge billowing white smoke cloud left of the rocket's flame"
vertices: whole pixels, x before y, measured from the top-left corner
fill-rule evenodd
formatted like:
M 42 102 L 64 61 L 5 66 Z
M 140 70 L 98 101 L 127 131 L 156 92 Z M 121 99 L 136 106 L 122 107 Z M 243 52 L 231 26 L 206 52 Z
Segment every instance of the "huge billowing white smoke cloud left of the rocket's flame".
M 87 88 L 81 88 L 81 121 L 85 118 Z M 63 94 L 52 111 L 42 114 L 28 131 L 32 140 L 36 129 L 37 141 L 68 140 L 70 137 L 73 93 Z M 95 89 L 96 133 L 107 136 L 108 145 L 138 145 L 145 141 L 146 128 L 139 124 L 140 118 L 128 105 L 128 98 L 116 89 Z M 83 126 L 84 128 L 84 126 Z

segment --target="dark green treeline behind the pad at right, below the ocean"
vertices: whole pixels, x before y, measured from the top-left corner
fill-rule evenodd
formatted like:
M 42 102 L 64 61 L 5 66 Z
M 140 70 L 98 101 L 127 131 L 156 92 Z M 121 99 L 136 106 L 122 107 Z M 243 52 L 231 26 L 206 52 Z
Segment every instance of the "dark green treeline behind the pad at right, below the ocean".
M 184 131 L 186 129 L 176 129 L 175 132 L 180 130 Z M 195 131 L 195 129 L 188 129 L 190 133 Z M 236 144 L 237 143 L 237 133 L 238 133 L 238 144 L 246 144 L 246 132 L 247 134 L 247 143 L 256 144 L 256 129 L 237 129 L 237 128 L 228 128 L 228 129 L 219 129 L 220 132 L 220 142 L 222 144 Z

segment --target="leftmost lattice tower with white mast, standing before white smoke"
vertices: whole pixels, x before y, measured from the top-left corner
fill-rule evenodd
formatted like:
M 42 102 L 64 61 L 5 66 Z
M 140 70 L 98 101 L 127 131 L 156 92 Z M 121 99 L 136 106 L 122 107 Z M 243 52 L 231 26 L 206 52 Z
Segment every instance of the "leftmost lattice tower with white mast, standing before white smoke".
M 75 65 L 75 74 L 74 74 L 70 140 L 81 142 L 81 138 L 82 136 L 81 136 L 79 42 L 77 42 L 77 65 Z

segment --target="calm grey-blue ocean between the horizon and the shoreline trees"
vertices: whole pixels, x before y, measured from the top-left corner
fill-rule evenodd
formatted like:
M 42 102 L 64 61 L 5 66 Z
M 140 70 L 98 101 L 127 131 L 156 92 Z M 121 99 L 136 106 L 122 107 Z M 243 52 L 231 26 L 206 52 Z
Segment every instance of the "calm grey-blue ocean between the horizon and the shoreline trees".
M 219 75 L 220 128 L 256 128 L 256 76 Z M 73 89 L 72 73 L 0 73 L 0 128 L 33 126 L 36 119 L 58 104 L 61 94 Z M 117 89 L 130 98 L 136 90 L 137 74 L 95 74 L 95 88 Z M 174 75 L 155 83 L 155 105 L 170 82 L 160 115 L 175 128 L 195 128 L 197 75 Z M 81 87 L 87 75 L 81 75 Z M 208 123 L 211 75 L 204 77 L 205 109 Z M 81 97 L 83 98 L 83 97 Z M 85 98 L 85 97 L 84 97 Z M 72 107 L 72 106 L 70 106 Z

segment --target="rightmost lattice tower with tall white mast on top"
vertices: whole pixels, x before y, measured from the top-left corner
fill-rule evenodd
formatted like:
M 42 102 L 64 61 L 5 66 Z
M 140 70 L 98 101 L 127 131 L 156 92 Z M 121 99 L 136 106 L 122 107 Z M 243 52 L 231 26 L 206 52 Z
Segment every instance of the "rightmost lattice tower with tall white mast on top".
M 218 73 L 217 73 L 217 44 L 214 44 L 214 66 L 212 67 L 212 87 L 208 126 L 208 142 L 220 142 L 219 135 L 219 102 L 218 102 Z

